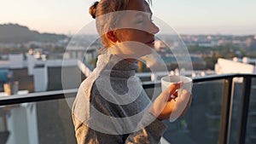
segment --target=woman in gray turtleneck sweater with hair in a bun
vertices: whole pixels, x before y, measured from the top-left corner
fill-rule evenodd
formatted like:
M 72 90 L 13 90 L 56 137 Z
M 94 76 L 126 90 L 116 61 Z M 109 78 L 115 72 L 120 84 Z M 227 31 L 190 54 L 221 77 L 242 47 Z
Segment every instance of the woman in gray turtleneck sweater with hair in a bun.
M 101 0 L 90 7 L 104 46 L 95 70 L 79 87 L 73 123 L 79 144 L 159 143 L 166 130 L 161 120 L 191 101 L 188 90 L 173 101 L 182 83 L 172 84 L 152 103 L 138 78 L 138 58 L 152 53 L 154 34 L 150 0 Z M 189 107 L 179 115 L 182 115 Z M 179 110 L 180 111 L 180 110 Z

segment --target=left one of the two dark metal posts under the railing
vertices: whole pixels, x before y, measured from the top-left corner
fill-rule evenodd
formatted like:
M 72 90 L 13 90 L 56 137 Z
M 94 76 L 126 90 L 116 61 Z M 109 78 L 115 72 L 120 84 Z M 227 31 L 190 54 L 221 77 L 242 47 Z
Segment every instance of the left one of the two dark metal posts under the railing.
M 221 128 L 219 134 L 220 144 L 228 144 L 230 141 L 230 123 L 233 103 L 233 91 L 233 78 L 226 78 L 224 80 L 224 97 L 221 112 Z

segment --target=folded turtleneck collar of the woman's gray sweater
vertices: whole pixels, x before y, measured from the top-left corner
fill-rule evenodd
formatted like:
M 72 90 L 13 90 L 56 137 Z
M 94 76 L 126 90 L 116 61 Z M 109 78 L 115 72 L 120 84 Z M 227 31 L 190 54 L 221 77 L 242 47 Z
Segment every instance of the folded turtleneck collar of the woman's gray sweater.
M 112 78 L 130 78 L 135 75 L 137 64 L 123 60 L 117 55 L 99 55 L 96 68 L 109 73 Z

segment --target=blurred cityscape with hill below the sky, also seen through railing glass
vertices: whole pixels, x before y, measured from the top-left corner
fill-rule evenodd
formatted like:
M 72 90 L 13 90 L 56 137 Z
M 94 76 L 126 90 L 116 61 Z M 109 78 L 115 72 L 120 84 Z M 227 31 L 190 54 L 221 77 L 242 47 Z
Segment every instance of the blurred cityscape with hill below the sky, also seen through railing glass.
M 67 78 L 64 78 L 68 82 L 65 89 L 78 89 L 79 84 L 93 71 L 96 57 L 102 49 L 102 43 L 96 35 L 72 38 L 31 31 L 17 24 L 0 25 L 0 33 L 0 96 L 3 98 L 8 95 L 61 90 L 63 72 L 67 73 Z M 162 39 L 156 40 L 154 49 L 165 60 L 170 75 L 183 73 L 196 78 L 256 71 L 256 36 L 182 35 L 180 38 L 189 50 L 193 71 L 178 69 L 177 55 L 172 55 L 172 49 L 181 47 L 180 39 L 169 35 L 160 37 Z M 90 47 L 86 47 L 88 43 Z M 153 74 L 147 64 L 138 61 L 137 77 L 143 83 L 160 80 L 162 73 Z M 242 79 L 236 78 L 232 115 L 234 126 L 231 128 L 236 128 L 238 121 L 236 111 L 241 99 L 241 83 Z M 252 144 L 256 141 L 255 88 L 253 85 L 253 110 L 249 114 L 251 120 L 248 123 L 251 130 L 247 133 L 247 143 Z M 148 96 L 153 95 L 152 89 L 146 90 Z M 160 92 L 160 89 L 157 90 Z M 175 124 L 166 121 L 170 130 L 166 131 L 163 141 L 218 143 L 223 93 L 224 82 L 221 80 L 195 84 L 195 101 L 188 114 Z M 0 132 L 8 131 L 8 135 L 3 133 L 8 144 L 75 143 L 71 110 L 65 100 L 8 105 L 0 110 Z M 198 136 L 200 133 L 201 136 Z M 230 143 L 236 141 L 236 133 L 236 129 L 231 133 Z

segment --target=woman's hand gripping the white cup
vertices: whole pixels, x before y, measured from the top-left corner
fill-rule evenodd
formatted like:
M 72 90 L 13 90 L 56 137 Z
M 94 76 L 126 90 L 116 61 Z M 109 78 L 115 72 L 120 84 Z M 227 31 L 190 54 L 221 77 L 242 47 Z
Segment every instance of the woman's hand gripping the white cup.
M 177 89 L 182 85 L 183 83 L 177 83 L 169 86 L 155 99 L 148 112 L 160 120 L 170 118 L 174 121 L 183 116 L 189 109 L 192 95 L 187 89 L 182 89 L 177 96 Z

